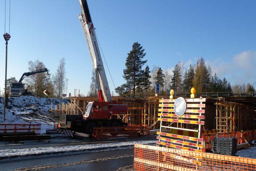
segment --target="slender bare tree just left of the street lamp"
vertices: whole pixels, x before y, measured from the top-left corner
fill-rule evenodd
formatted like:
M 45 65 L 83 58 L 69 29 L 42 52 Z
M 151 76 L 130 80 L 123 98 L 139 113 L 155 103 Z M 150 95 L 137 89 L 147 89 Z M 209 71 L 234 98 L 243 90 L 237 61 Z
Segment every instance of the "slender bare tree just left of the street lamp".
M 60 64 L 58 65 L 57 72 L 54 76 L 54 84 L 56 87 L 56 95 L 57 97 L 62 96 L 62 92 L 65 88 L 65 80 L 64 77 L 66 76 L 66 69 L 65 69 L 65 58 L 60 59 Z

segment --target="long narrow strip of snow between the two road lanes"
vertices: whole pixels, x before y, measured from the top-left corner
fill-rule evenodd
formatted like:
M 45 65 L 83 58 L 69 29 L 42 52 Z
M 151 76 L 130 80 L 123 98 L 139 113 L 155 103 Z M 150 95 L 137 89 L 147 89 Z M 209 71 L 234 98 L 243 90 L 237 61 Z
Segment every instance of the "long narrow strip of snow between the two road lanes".
M 134 146 L 134 143 L 140 144 L 151 144 L 155 143 L 156 140 L 151 141 L 130 141 L 130 142 L 113 142 L 107 144 L 92 144 L 92 145 L 78 145 L 78 146 L 62 146 L 62 147 L 39 147 L 39 148 L 27 148 L 27 149 L 7 149 L 0 150 L 0 157 L 9 156 L 24 156 L 31 154 L 44 154 L 44 153 L 56 153 L 56 152 L 70 152 L 80 150 L 97 150 L 99 148 L 113 148 L 120 146 Z

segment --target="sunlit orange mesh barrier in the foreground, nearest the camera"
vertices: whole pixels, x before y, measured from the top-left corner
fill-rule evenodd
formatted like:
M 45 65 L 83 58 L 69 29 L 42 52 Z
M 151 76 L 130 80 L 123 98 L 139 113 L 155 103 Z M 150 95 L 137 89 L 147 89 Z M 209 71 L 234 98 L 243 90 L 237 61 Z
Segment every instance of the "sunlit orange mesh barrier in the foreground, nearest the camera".
M 134 169 L 137 171 L 255 171 L 256 159 L 135 144 Z

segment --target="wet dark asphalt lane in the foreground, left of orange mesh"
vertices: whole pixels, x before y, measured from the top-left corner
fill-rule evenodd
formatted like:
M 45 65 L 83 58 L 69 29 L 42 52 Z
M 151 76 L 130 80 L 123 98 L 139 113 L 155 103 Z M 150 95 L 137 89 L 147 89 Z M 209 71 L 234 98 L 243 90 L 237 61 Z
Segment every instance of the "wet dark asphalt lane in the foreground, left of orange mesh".
M 69 154 L 64 156 L 51 156 L 25 159 L 17 161 L 6 161 L 0 163 L 1 171 L 28 171 L 28 170 L 48 170 L 48 171 L 112 171 L 112 170 L 133 170 L 134 149 L 115 150 L 105 152 L 94 152 L 87 154 Z M 127 168 L 125 166 L 128 166 Z

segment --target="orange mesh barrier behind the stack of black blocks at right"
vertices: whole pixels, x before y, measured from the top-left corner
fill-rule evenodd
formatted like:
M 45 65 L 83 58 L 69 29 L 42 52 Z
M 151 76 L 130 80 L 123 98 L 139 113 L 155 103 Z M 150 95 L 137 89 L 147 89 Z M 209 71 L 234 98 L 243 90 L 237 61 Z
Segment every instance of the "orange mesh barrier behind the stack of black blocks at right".
M 201 134 L 201 138 L 204 140 L 205 149 L 212 150 L 212 141 L 213 138 L 216 138 L 217 134 L 218 137 L 225 138 L 234 138 L 237 135 L 237 144 L 242 144 L 245 140 L 256 140 L 256 130 Z

